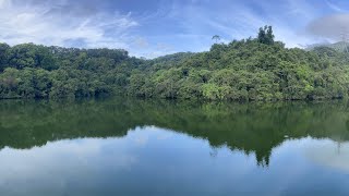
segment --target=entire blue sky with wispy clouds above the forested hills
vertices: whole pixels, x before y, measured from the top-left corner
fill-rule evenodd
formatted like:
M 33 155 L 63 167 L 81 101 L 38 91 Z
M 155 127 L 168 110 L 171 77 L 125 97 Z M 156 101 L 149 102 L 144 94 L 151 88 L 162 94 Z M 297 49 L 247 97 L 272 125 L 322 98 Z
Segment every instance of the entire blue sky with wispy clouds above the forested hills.
M 121 48 L 156 58 L 255 37 L 287 47 L 349 37 L 348 0 L 0 0 L 0 42 Z M 345 36 L 344 36 L 345 35 Z

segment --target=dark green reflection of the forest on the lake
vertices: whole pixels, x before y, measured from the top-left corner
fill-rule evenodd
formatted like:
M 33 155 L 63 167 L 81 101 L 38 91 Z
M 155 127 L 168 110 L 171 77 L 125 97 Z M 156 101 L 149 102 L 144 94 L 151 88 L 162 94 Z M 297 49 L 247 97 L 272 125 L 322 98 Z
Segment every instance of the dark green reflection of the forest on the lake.
M 349 139 L 346 101 L 222 103 L 165 100 L 2 101 L 0 147 L 31 148 L 77 137 L 122 137 L 156 125 L 205 138 L 213 147 L 255 154 L 267 166 L 273 148 L 306 136 Z M 285 136 L 289 138 L 286 138 Z

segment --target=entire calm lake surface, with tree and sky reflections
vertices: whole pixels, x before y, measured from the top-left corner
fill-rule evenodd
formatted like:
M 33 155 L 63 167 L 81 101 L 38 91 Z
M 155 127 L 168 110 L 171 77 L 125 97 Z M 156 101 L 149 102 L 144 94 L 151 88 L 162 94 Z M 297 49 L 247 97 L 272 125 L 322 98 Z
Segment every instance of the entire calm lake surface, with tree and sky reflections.
M 0 195 L 349 195 L 346 101 L 1 101 Z

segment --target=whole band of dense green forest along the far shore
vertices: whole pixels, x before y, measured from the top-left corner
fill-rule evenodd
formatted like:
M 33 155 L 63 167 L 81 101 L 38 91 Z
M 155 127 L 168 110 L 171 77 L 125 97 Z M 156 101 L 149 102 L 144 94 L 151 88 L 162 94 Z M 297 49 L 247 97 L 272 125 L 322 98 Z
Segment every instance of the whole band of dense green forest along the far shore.
M 130 57 L 120 49 L 0 44 L 0 98 L 345 98 L 349 94 L 346 51 L 289 49 L 274 40 L 270 26 L 260 28 L 256 38 L 153 60 Z

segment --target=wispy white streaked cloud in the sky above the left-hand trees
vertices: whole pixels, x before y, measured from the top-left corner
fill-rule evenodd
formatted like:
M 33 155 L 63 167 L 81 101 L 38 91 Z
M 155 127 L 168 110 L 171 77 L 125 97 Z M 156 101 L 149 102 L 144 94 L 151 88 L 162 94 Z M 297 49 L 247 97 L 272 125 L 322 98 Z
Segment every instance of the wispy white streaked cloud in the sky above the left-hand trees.
M 128 49 L 128 41 L 132 38 L 128 32 L 139 25 L 131 13 L 70 7 L 64 0 L 29 2 L 0 0 L 0 41 L 65 47 L 75 46 L 79 41 L 80 47 Z

